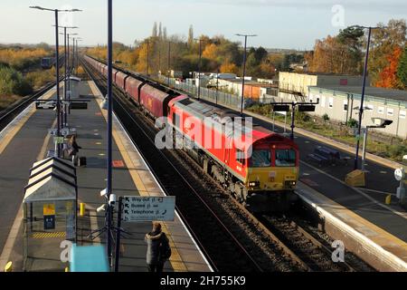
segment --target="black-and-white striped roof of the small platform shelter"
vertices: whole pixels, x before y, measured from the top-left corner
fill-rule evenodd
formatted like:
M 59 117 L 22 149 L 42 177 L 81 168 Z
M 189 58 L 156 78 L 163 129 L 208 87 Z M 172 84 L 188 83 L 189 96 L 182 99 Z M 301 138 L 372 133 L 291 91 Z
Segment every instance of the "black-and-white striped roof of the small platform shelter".
M 75 200 L 76 169 L 71 162 L 55 157 L 35 162 L 24 189 L 24 203 Z

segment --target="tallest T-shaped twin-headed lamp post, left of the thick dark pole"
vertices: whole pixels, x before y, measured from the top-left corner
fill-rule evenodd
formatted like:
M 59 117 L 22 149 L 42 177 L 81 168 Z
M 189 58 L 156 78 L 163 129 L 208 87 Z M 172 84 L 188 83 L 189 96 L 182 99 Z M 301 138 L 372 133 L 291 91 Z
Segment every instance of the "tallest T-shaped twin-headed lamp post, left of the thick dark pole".
M 57 137 L 61 137 L 61 98 L 60 98 L 60 53 L 59 53 L 59 37 L 58 37 L 58 14 L 60 12 L 80 12 L 80 9 L 50 9 L 41 6 L 30 6 L 31 9 L 43 11 L 51 11 L 55 14 L 55 66 L 56 66 L 56 94 L 57 94 Z M 61 157 L 61 144 L 56 146 L 56 156 Z

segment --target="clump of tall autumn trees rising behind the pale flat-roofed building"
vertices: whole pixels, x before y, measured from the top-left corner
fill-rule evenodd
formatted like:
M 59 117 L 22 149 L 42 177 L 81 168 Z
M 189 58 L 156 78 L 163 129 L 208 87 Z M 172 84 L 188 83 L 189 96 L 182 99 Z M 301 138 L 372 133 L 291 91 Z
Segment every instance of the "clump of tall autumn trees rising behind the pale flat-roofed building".
M 402 88 L 400 62 L 406 43 L 405 20 L 377 24 L 372 31 L 368 73 L 375 86 Z M 362 74 L 367 37 L 357 26 L 347 27 L 338 35 L 317 40 L 314 51 L 306 53 L 308 70 L 313 73 Z

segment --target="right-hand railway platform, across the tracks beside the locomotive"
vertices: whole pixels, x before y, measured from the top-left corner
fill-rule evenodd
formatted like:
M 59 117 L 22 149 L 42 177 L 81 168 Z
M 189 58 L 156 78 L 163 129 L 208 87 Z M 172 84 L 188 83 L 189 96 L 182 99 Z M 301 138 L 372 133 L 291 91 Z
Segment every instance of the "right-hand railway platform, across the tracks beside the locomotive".
M 269 118 L 251 111 L 244 113 L 269 130 L 274 127 L 276 132 L 284 132 L 280 123 L 273 125 Z M 297 130 L 295 135 L 300 150 L 298 196 L 310 210 L 317 212 L 327 234 L 342 240 L 346 249 L 377 270 L 407 271 L 407 212 L 396 202 L 398 183 L 393 177 L 394 162 L 374 160 L 373 155 L 368 155 L 366 187 L 350 187 L 344 180 L 352 171 L 353 162 L 318 166 L 307 157 L 318 146 L 324 146 L 354 160 L 352 150 L 314 135 L 304 130 Z M 385 204 L 388 195 L 393 197 L 390 205 Z

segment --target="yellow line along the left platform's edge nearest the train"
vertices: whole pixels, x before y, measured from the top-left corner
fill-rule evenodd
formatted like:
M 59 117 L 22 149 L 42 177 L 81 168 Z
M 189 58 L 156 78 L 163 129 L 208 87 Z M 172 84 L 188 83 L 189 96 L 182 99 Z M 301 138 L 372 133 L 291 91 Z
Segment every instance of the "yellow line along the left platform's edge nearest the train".
M 94 82 L 89 82 L 90 84 L 90 90 L 92 91 L 93 95 L 99 96 L 99 90 L 96 88 Z M 96 102 L 100 105 L 101 100 L 95 99 Z M 99 106 L 100 108 L 100 106 Z M 105 120 L 108 120 L 108 113 L 107 111 L 100 110 L 103 117 Z M 118 150 L 123 157 L 123 160 L 125 161 L 125 164 L 128 168 L 128 172 L 130 173 L 131 179 L 133 179 L 133 182 L 138 189 L 138 194 L 140 196 L 150 196 L 149 192 L 146 189 L 146 186 L 143 183 L 143 180 L 139 176 L 136 167 L 133 164 L 133 161 L 131 160 L 130 156 L 128 155 L 128 151 L 126 150 L 125 146 L 123 145 L 123 142 L 121 141 L 120 137 L 118 136 L 118 131 L 116 128 L 113 128 L 113 139 L 115 140 L 116 144 L 118 145 Z M 173 237 L 171 236 L 171 233 L 168 231 L 168 227 L 166 226 L 166 223 L 163 223 L 163 231 L 166 233 L 166 236 L 169 239 L 169 244 L 172 249 L 172 254 L 169 259 L 169 262 L 171 263 L 171 266 L 173 267 L 175 272 L 187 272 L 187 268 L 185 266 L 185 263 L 181 257 L 181 255 L 178 252 L 178 249 L 175 247 L 175 242 Z

